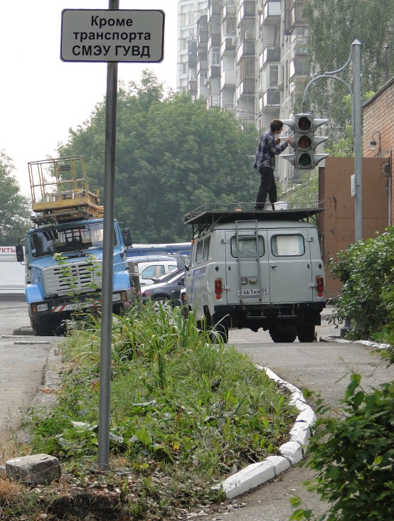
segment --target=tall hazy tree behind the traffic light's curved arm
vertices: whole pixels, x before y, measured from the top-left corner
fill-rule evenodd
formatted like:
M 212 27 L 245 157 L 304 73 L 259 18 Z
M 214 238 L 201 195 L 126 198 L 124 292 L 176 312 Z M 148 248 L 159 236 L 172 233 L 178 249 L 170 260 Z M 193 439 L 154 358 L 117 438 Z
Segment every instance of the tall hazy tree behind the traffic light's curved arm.
M 388 70 L 394 70 L 394 11 L 392 0 L 305 0 L 304 17 L 309 26 L 309 57 L 312 77 L 338 70 L 345 65 L 353 41 L 361 41 L 361 92 L 376 92 L 385 82 L 385 58 Z M 386 46 L 389 46 L 386 48 Z M 343 78 L 351 82 L 353 71 Z M 343 137 L 350 124 L 344 110 L 348 89 L 336 80 L 321 80 L 309 91 L 309 102 L 319 114 L 329 115 L 330 136 Z

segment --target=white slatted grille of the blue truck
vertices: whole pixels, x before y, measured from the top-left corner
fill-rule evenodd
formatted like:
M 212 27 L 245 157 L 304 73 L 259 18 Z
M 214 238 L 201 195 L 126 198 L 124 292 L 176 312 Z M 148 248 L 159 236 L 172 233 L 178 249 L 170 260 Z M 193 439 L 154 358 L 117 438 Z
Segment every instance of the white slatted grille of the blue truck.
M 43 286 L 46 296 L 64 296 L 88 293 L 101 289 L 101 262 L 75 262 L 43 269 Z

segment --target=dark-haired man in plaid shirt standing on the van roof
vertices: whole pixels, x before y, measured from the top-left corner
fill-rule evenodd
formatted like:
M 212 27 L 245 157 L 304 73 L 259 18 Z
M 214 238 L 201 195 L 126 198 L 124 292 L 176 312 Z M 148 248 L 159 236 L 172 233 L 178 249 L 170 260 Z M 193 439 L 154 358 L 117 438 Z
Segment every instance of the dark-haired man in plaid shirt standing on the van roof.
M 277 186 L 274 178 L 275 156 L 283 152 L 292 139 L 289 136 L 283 144 L 280 144 L 280 138 L 277 135 L 282 132 L 282 128 L 283 123 L 280 119 L 272 119 L 270 130 L 264 132 L 260 137 L 254 164 L 261 176 L 255 210 L 264 210 L 267 194 L 272 204 L 272 209 L 274 209 L 274 203 L 277 202 Z

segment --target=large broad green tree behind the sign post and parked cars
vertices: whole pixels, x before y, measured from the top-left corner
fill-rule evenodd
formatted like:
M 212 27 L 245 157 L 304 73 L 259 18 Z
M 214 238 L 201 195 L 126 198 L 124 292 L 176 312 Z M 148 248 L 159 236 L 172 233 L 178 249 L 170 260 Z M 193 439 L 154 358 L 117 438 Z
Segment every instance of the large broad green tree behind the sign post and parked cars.
M 117 218 L 134 242 L 189 240 L 183 216 L 203 203 L 255 199 L 252 168 L 257 131 L 240 127 L 230 112 L 171 94 L 151 72 L 141 85 L 121 86 L 117 103 Z M 60 156 L 85 156 L 90 187 L 104 190 L 105 104 L 70 131 Z

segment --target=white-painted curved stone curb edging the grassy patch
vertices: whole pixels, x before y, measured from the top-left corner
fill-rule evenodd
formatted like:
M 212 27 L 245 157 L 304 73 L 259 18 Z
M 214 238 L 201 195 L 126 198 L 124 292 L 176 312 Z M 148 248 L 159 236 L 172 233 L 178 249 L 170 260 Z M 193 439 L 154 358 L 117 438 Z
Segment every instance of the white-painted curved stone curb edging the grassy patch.
M 267 377 L 277 382 L 279 387 L 285 387 L 289 390 L 292 394 L 289 403 L 297 407 L 299 415 L 290 431 L 290 441 L 279 447 L 279 456 L 268 456 L 264 461 L 252 463 L 213 486 L 213 490 L 223 490 L 228 499 L 235 498 L 235 496 L 243 494 L 251 488 L 276 478 L 292 465 L 301 461 L 307 451 L 312 425 L 316 421 L 314 411 L 305 402 L 302 392 L 297 387 L 279 378 L 268 367 L 261 367 L 260 365 L 256 365 L 256 367 L 264 370 Z

